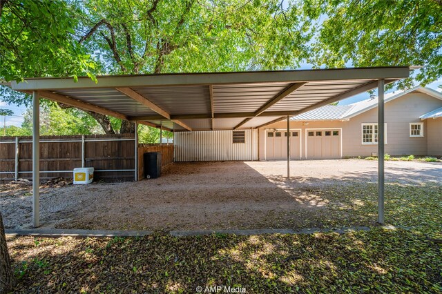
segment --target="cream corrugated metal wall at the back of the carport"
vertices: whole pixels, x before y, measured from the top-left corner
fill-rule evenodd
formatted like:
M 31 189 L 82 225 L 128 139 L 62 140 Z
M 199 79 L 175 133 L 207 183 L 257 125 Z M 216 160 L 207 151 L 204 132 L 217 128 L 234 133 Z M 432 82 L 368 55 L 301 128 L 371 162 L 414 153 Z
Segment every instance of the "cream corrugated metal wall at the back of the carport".
M 232 130 L 175 133 L 175 161 L 258 160 L 258 130 L 233 144 Z

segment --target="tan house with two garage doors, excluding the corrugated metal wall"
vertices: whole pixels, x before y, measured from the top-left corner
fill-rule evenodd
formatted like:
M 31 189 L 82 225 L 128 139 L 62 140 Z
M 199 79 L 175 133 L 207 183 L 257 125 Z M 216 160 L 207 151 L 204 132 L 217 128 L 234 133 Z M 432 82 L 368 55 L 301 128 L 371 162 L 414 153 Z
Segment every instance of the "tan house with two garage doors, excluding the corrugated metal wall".
M 333 159 L 377 153 L 378 99 L 327 105 L 291 117 L 291 159 Z M 287 158 L 287 121 L 260 132 L 260 159 Z M 385 95 L 385 153 L 442 157 L 442 93 L 415 87 Z

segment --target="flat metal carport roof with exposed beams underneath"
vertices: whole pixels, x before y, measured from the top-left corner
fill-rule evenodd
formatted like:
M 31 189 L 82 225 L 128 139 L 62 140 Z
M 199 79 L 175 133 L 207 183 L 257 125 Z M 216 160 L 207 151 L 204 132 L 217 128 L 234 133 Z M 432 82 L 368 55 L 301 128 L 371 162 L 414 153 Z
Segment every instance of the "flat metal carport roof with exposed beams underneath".
M 170 130 L 258 128 L 409 77 L 410 67 L 32 78 L 13 90 Z

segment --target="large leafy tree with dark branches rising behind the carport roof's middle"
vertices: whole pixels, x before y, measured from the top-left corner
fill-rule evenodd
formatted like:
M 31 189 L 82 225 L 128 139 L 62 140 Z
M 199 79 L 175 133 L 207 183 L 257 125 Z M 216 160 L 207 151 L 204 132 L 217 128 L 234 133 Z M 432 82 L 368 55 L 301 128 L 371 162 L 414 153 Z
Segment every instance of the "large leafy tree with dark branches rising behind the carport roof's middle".
M 280 1 L 79 2 L 79 43 L 106 74 L 293 67 L 306 56 L 309 23 Z M 111 121 L 94 115 L 112 132 Z M 107 127 L 105 125 L 108 125 Z M 120 133 L 133 132 L 122 121 Z

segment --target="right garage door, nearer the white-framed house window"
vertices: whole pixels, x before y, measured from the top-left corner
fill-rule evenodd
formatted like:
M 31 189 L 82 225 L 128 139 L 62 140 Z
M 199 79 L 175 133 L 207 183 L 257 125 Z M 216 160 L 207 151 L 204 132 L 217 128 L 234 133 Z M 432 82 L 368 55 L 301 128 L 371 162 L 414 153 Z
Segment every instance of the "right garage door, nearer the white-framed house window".
M 306 129 L 306 153 L 307 159 L 334 159 L 340 158 L 340 137 L 341 130 Z

